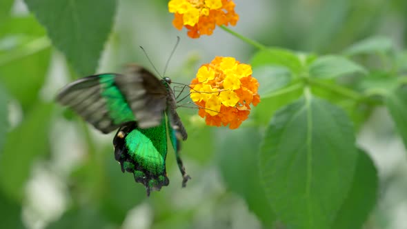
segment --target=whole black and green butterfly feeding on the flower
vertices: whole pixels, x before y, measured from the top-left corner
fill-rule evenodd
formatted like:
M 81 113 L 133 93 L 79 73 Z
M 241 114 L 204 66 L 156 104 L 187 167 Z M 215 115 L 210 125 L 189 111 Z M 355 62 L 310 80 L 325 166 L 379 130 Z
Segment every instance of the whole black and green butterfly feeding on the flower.
M 168 77 L 159 80 L 145 68 L 129 65 L 123 74 L 97 74 L 69 83 L 57 101 L 105 134 L 119 128 L 113 139 L 115 159 L 121 171 L 132 172 L 150 195 L 150 190 L 169 183 L 167 132 L 183 176 L 182 186 L 190 179 L 179 157 L 180 141 L 188 135 L 175 110 L 177 101 L 170 83 Z

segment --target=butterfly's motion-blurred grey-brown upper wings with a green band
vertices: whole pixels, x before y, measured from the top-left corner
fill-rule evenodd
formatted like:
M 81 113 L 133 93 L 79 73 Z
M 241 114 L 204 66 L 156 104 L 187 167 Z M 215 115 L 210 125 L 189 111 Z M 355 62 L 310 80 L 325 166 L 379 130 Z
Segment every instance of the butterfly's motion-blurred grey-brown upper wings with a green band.
M 128 121 L 137 121 L 139 128 L 159 126 L 167 91 L 148 70 L 131 65 L 125 74 L 97 74 L 74 81 L 57 100 L 108 133 Z

